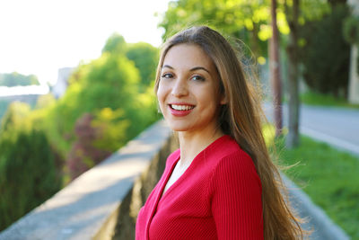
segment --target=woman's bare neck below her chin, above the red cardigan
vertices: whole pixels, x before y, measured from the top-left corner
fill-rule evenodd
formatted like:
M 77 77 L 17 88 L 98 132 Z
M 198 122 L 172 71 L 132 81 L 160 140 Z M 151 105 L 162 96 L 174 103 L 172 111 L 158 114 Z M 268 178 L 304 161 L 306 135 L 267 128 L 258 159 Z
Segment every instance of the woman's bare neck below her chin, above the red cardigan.
M 202 150 L 223 135 L 223 131 L 220 129 L 201 134 L 194 134 L 188 131 L 179 132 L 180 164 L 190 164 Z

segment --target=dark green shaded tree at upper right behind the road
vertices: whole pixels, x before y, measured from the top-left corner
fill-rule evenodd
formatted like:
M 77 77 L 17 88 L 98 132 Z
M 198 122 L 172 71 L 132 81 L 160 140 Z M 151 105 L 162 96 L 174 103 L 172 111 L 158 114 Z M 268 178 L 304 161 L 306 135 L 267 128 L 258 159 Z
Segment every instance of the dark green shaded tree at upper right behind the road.
M 350 46 L 340 32 L 347 14 L 346 5 L 338 4 L 322 20 L 306 22 L 301 28 L 303 77 L 316 92 L 346 96 Z

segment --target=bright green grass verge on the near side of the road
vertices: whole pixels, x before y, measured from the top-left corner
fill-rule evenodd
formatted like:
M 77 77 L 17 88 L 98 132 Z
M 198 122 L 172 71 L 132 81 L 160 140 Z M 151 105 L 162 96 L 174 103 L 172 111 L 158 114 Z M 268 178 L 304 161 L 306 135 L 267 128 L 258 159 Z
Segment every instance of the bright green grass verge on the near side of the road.
M 270 131 L 265 129 L 267 139 Z M 295 149 L 286 149 L 283 139 L 277 146 L 281 163 L 295 164 L 285 174 L 352 239 L 359 239 L 359 157 L 304 136 Z

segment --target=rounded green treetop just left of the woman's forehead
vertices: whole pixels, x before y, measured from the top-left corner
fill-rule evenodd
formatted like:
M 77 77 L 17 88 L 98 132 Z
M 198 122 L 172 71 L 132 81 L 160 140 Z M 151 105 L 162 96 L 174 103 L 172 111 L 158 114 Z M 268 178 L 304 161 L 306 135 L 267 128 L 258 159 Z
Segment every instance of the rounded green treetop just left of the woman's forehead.
M 134 61 L 136 68 L 139 70 L 141 79 L 141 92 L 154 83 L 156 67 L 159 58 L 159 51 L 151 44 L 146 42 L 137 42 L 127 44 L 126 56 Z

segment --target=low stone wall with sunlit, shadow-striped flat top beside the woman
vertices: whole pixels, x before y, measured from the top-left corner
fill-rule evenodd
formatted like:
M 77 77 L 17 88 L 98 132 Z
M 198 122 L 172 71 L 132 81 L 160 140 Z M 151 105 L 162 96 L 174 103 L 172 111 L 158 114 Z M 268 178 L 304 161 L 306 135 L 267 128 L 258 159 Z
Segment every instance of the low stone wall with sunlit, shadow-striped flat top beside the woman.
M 176 147 L 155 123 L 0 233 L 15 239 L 134 239 L 138 210 Z

